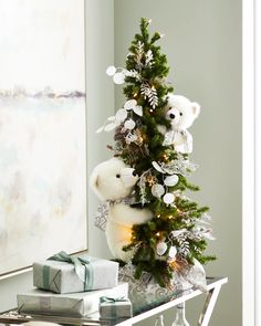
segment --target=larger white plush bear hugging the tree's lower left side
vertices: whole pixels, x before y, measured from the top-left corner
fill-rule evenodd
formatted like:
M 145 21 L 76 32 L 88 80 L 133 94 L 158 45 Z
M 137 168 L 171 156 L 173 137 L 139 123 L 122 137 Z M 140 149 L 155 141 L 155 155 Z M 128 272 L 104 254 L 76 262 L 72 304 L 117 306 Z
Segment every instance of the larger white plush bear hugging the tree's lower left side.
M 147 209 L 136 209 L 124 202 L 133 191 L 138 176 L 133 168 L 127 167 L 121 159 L 112 158 L 97 165 L 91 175 L 91 187 L 101 200 L 109 201 L 106 239 L 115 259 L 128 261 L 132 251 L 123 251 L 130 243 L 132 228 L 143 224 L 153 218 Z

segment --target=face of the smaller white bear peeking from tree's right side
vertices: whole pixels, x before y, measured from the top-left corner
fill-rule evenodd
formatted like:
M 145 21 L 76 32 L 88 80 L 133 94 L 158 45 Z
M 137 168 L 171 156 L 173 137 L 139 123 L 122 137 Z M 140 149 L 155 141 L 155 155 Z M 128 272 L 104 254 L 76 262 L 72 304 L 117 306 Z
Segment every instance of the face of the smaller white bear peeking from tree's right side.
M 187 129 L 200 113 L 200 106 L 181 95 L 168 94 L 166 118 L 170 120 L 173 129 Z

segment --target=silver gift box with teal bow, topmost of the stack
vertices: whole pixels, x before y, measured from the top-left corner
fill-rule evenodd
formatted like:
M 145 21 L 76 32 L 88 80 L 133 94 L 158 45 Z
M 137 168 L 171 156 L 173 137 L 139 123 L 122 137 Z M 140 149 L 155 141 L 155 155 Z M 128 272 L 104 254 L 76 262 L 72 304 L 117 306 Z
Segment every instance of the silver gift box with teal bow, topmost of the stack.
M 117 285 L 118 263 L 60 252 L 33 264 L 33 285 L 54 293 L 86 292 Z

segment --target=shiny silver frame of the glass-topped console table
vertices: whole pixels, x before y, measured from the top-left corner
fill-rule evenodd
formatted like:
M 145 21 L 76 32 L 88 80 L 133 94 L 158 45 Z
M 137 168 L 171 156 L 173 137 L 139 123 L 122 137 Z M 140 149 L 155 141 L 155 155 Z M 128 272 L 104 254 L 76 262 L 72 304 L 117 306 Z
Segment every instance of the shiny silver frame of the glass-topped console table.
M 208 292 L 203 294 L 199 290 L 190 288 L 187 291 L 179 292 L 168 302 L 161 303 L 155 307 L 149 307 L 147 311 L 144 311 L 140 314 L 135 315 L 132 318 L 125 320 L 103 320 L 100 318 L 98 314 L 92 314 L 86 317 L 75 318 L 67 316 L 53 316 L 53 315 L 19 315 L 15 311 L 10 311 L 3 314 L 0 314 L 0 324 L 12 325 L 12 324 L 24 324 L 27 322 L 51 322 L 62 325 L 83 325 L 83 326 L 97 326 L 97 325 L 109 325 L 109 326 L 130 326 L 135 323 L 142 322 L 146 318 L 149 318 L 155 315 L 160 315 L 165 311 L 176 307 L 185 306 L 185 302 L 194 298 L 198 295 L 206 295 L 206 301 L 203 309 L 200 314 L 198 325 L 207 326 L 217 302 L 220 288 L 223 284 L 228 282 L 227 277 L 208 277 Z

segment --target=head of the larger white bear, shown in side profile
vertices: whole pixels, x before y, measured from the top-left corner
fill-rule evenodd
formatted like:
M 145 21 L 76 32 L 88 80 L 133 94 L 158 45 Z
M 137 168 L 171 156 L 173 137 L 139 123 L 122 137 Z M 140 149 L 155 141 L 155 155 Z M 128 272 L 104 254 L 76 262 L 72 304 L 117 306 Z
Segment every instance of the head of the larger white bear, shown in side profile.
M 91 175 L 91 186 L 102 200 L 128 197 L 137 180 L 136 171 L 118 158 L 97 165 Z

